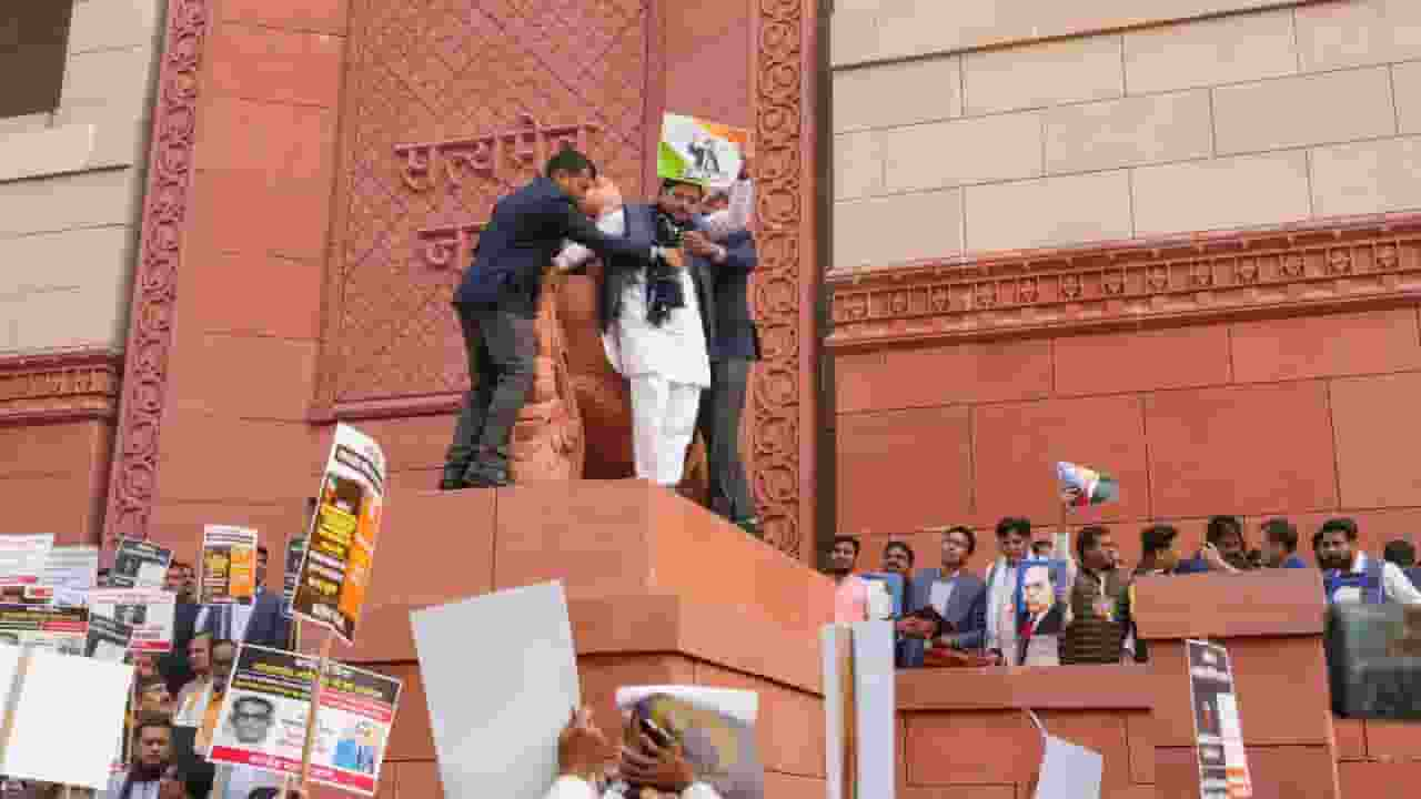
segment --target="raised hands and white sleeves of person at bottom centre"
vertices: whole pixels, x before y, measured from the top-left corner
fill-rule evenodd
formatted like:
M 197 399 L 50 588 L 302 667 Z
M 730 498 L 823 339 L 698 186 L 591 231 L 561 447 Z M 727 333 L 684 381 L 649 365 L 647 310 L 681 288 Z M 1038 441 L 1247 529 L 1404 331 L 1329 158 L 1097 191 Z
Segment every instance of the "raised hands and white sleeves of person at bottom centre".
M 695 773 L 676 749 L 661 749 L 642 741 L 642 752 L 622 748 L 620 771 L 664 796 L 674 799 L 720 799 L 715 788 L 695 781 Z M 557 739 L 558 778 L 544 799 L 598 799 L 612 746 L 593 722 L 590 708 L 573 714 Z

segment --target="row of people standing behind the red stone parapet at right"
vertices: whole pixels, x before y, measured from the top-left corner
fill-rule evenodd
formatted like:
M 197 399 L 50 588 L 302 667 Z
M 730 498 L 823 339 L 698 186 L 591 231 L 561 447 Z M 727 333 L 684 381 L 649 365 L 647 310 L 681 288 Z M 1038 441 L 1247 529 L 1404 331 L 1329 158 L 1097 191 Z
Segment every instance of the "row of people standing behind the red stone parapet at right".
M 836 621 L 895 618 L 901 668 L 1130 663 L 1148 657 L 1131 617 L 1137 577 L 1309 569 L 1297 554 L 1299 533 L 1292 522 L 1269 519 L 1259 532 L 1262 545 L 1249 549 L 1242 520 L 1214 516 L 1204 546 L 1184 557 L 1179 532 L 1152 525 L 1140 533 L 1140 562 L 1131 567 L 1104 526 L 1076 530 L 1070 552 L 1059 552 L 1053 540 L 1033 540 L 1030 520 L 1006 518 L 996 525 L 1000 554 L 982 576 L 969 567 L 978 539 L 966 526 L 942 532 L 941 564 L 935 567 L 915 570 L 912 547 L 890 540 L 880 567 L 858 572 L 860 539 L 838 536 L 827 570 L 837 583 Z M 1329 519 L 1313 533 L 1327 601 L 1421 606 L 1415 547 L 1394 540 L 1376 557 L 1358 549 L 1357 540 L 1357 522 L 1350 518 Z M 882 576 L 901 581 L 895 613 L 875 607 L 875 594 L 895 584 Z

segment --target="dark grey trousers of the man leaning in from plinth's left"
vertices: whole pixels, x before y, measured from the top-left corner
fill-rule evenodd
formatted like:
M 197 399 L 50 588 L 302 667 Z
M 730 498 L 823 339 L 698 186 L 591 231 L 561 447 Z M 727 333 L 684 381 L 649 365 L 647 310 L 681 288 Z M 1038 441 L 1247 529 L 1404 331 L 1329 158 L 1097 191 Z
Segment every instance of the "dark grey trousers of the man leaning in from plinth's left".
M 452 476 L 466 469 L 504 471 L 509 465 L 509 434 L 533 388 L 537 309 L 531 300 L 499 306 L 458 304 L 455 309 L 463 328 L 473 387 L 459 411 L 445 472 Z M 479 476 L 489 475 L 479 472 Z

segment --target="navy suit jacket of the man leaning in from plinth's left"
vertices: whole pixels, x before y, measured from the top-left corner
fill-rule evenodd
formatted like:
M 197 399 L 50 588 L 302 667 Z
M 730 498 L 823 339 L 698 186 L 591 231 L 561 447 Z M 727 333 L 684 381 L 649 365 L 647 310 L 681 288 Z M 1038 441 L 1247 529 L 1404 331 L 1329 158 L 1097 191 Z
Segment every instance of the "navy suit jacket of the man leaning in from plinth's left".
M 492 307 L 512 300 L 520 311 L 537 313 L 543 272 L 564 239 L 584 245 L 604 260 L 625 257 L 645 263 L 651 257 L 649 243 L 603 233 L 557 183 L 539 176 L 493 206 L 473 263 L 455 291 L 455 304 Z

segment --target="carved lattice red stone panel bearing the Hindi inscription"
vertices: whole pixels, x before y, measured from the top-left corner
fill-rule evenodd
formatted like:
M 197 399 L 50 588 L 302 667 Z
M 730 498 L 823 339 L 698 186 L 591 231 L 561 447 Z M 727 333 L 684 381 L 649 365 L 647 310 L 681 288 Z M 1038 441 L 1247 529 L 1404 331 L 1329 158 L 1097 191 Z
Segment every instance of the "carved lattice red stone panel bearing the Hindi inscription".
M 641 192 L 644 0 L 357 0 L 317 405 L 460 394 L 449 300 L 560 142 Z

